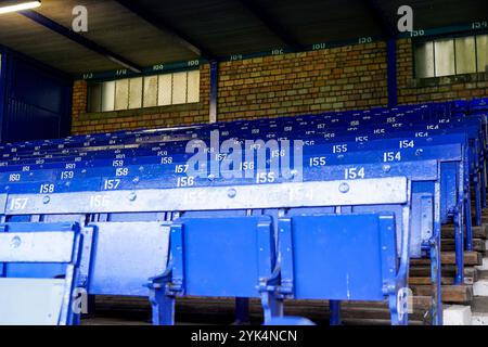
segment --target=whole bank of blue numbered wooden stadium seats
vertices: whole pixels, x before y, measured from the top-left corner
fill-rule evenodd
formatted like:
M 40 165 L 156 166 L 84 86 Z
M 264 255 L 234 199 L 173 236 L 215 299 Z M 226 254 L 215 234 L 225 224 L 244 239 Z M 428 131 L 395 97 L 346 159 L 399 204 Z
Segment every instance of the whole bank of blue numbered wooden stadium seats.
M 267 324 L 288 299 L 331 300 L 333 324 L 342 300 L 387 300 L 407 324 L 426 257 L 441 324 L 440 226 L 462 284 L 487 115 L 457 101 L 1 145 L 0 323 L 79 323 L 87 293 L 147 296 L 155 324 L 179 296 L 257 297 Z

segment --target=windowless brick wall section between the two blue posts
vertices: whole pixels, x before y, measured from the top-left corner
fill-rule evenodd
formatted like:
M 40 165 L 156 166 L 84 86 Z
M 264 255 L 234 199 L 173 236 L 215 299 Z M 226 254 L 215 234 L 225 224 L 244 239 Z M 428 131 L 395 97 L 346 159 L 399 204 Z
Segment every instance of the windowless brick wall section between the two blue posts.
M 227 62 L 219 78 L 220 120 L 388 102 L 383 42 Z

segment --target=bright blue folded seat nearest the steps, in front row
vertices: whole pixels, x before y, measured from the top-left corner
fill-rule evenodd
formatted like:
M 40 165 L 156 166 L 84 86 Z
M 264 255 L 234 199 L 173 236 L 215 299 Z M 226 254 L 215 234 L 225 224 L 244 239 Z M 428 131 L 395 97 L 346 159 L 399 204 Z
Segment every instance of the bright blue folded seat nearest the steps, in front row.
M 297 299 L 383 300 L 395 283 L 391 214 L 281 218 L 283 292 Z

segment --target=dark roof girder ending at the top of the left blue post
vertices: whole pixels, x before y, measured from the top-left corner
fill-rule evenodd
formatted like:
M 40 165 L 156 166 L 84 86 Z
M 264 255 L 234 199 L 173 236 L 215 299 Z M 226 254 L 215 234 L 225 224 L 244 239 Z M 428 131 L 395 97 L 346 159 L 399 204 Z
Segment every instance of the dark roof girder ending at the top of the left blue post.
M 189 38 L 187 35 L 181 33 L 180 30 L 172 27 L 170 24 L 166 23 L 162 18 L 158 18 L 142 9 L 137 1 L 128 1 L 128 0 L 115 0 L 118 4 L 126 8 L 130 12 L 138 15 L 140 18 L 144 20 L 149 24 L 153 25 L 160 31 L 164 31 L 166 35 L 169 35 L 176 42 L 188 49 L 189 51 L 206 59 L 206 60 L 215 60 L 214 54 L 202 44 L 195 42 L 193 39 Z

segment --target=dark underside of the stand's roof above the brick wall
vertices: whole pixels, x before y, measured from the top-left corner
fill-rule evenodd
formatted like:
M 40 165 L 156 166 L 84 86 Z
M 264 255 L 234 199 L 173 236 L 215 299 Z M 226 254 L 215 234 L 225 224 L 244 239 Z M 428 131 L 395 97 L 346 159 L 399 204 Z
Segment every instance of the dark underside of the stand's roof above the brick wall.
M 88 9 L 81 36 L 137 66 L 384 36 L 402 0 L 42 0 L 36 12 L 66 28 Z M 486 0 L 411 0 L 415 28 L 486 21 Z M 76 35 L 76 34 L 75 34 Z M 18 14 L 0 15 L 0 44 L 69 74 L 120 65 Z M 196 48 L 196 50 L 195 50 Z

